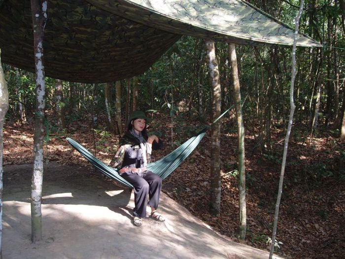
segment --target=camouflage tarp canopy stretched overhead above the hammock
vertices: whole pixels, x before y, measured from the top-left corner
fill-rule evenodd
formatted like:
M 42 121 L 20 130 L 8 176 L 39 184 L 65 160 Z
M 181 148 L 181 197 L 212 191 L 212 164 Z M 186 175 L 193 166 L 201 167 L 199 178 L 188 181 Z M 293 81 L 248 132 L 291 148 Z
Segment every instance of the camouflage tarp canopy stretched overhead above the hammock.
M 45 74 L 107 82 L 145 72 L 182 35 L 251 45 L 293 30 L 242 0 L 49 0 Z M 30 0 L 0 0 L 2 61 L 35 71 Z M 299 46 L 320 44 L 299 34 Z

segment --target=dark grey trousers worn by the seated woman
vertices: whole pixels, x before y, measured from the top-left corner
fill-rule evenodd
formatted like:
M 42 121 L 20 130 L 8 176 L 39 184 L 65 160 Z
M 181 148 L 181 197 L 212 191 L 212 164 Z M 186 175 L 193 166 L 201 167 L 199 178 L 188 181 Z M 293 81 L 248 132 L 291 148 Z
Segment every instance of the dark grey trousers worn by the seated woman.
M 148 204 L 153 208 L 158 208 L 162 178 L 148 170 L 143 172 L 141 176 L 131 172 L 122 173 L 121 176 L 134 186 L 134 216 L 146 218 L 147 194 Z

